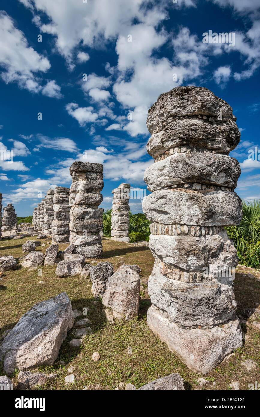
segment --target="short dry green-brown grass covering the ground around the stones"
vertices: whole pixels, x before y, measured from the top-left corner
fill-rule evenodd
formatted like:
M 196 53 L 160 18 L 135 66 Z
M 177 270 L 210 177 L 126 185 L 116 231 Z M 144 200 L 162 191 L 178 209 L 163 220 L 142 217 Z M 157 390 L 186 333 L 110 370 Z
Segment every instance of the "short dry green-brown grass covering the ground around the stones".
M 23 255 L 21 246 L 28 239 L 0 241 L 1 256 L 13 255 L 20 258 Z M 36 237 L 31 239 L 37 240 Z M 50 245 L 47 241 L 48 239 L 42 239 L 46 246 L 38 246 L 37 251 L 45 252 Z M 82 311 L 83 308 L 87 308 L 92 334 L 83 339 L 80 348 L 72 348 L 68 344 L 75 334 L 75 328 L 72 328 L 60 348 L 55 364 L 52 367 L 37 369 L 58 375 L 52 382 L 39 389 L 83 389 L 83 386 L 89 386 L 88 389 L 115 389 L 119 382 L 131 382 L 138 388 L 172 372 L 178 372 L 183 377 L 186 389 L 230 389 L 229 384 L 233 381 L 239 381 L 240 389 L 248 389 L 249 383 L 260 382 L 260 333 L 250 326 L 253 319 L 243 324 L 244 345 L 241 349 L 237 349 L 229 359 L 206 376 L 191 371 L 147 327 L 146 312 L 150 306 L 150 299 L 145 289 L 154 261 L 149 248 L 110 239 L 102 239 L 102 243 L 103 259 L 98 261 L 111 262 L 114 270 L 122 263 L 138 264 L 142 269 L 139 316 L 130 322 L 105 322 L 102 303 L 93 299 L 90 281 L 80 276 L 57 278 L 55 266 L 42 266 L 42 276 L 38 275 L 37 270 L 28 271 L 21 267 L 5 272 L 2 276 L 0 335 L 14 327 L 33 304 L 56 296 L 62 291 L 67 292 L 73 309 Z M 59 249 L 65 249 L 66 246 L 60 245 Z M 237 314 L 243 315 L 246 309 L 255 308 L 257 303 L 260 303 L 260 271 L 238 268 L 236 272 Z M 44 284 L 39 284 L 39 281 L 43 281 Z M 82 315 L 77 320 L 83 317 L 85 316 Z M 258 321 L 259 319 L 258 317 Z M 128 347 L 132 347 L 132 354 L 128 354 Z M 93 352 L 99 352 L 98 362 L 92 360 Z M 258 363 L 258 368 L 252 372 L 247 371 L 240 365 L 246 359 L 253 359 Z M 68 375 L 67 368 L 70 366 L 75 367 L 75 384 L 66 385 L 64 378 Z M 3 375 L 2 367 L 0 375 Z M 18 371 L 12 377 L 14 385 L 17 375 Z M 209 383 L 204 387 L 199 386 L 196 382 L 199 377 L 207 379 Z M 216 384 L 213 385 L 213 382 Z

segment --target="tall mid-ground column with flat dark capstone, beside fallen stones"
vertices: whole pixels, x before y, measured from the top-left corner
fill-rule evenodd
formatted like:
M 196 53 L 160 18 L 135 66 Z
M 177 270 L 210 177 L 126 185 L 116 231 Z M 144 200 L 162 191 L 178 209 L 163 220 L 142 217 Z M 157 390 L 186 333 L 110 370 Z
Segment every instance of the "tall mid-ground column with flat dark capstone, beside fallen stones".
M 102 255 L 100 230 L 103 166 L 100 163 L 74 162 L 70 167 L 70 243 L 75 253 L 86 258 Z

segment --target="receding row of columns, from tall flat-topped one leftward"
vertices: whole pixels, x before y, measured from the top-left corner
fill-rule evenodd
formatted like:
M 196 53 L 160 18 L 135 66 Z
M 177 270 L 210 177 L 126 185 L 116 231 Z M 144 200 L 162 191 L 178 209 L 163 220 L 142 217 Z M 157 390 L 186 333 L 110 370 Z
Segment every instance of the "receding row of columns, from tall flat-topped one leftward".
M 33 212 L 37 231 L 52 236 L 54 243 L 75 246 L 74 252 L 87 258 L 102 255 L 103 166 L 77 161 L 70 167 L 70 188 L 56 187 L 47 191 L 45 198 Z

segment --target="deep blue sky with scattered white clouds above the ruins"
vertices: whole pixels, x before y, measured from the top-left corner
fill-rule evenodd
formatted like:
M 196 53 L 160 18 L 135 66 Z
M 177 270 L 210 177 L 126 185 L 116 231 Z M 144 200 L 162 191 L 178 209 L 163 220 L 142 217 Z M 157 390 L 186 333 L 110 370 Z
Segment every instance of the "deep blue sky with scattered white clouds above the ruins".
M 234 32 L 235 45 L 203 43 L 210 30 Z M 32 214 L 39 192 L 70 186 L 75 160 L 103 163 L 101 207 L 121 182 L 145 188 L 147 111 L 178 85 L 233 107 L 236 191 L 259 198 L 260 156 L 248 159 L 259 144 L 259 66 L 259 0 L 2 0 L 0 150 L 14 155 L 0 160 L 3 206 Z M 140 200 L 130 207 L 140 212 Z

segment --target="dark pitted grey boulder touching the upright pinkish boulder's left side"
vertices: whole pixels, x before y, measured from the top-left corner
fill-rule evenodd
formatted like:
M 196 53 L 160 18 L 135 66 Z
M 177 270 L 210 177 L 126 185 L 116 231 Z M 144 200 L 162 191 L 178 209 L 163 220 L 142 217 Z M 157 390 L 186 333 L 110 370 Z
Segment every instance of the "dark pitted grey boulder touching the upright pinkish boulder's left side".
M 106 290 L 107 279 L 114 273 L 110 262 L 99 262 L 90 269 L 91 292 L 94 297 L 102 297 Z

